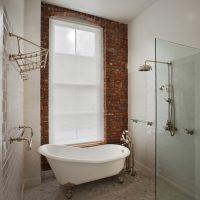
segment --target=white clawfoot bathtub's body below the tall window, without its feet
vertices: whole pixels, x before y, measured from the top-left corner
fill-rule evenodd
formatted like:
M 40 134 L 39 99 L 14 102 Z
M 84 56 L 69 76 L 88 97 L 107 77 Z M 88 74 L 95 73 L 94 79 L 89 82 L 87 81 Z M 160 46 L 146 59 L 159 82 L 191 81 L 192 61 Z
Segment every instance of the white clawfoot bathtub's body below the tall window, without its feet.
M 61 185 L 78 185 L 117 175 L 130 154 L 128 148 L 115 144 L 88 148 L 47 144 L 38 150 L 46 156 Z

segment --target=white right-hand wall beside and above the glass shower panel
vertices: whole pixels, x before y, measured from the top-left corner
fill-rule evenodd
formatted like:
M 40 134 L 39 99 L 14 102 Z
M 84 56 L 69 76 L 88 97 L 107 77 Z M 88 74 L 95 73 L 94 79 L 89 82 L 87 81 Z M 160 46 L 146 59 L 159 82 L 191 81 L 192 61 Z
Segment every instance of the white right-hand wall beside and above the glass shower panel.
M 199 0 L 158 0 L 129 24 L 129 119 L 155 121 L 154 70 L 141 73 L 138 67 L 155 60 L 155 37 L 200 48 L 199 10 Z M 154 126 L 130 122 L 129 128 L 136 163 L 154 171 Z

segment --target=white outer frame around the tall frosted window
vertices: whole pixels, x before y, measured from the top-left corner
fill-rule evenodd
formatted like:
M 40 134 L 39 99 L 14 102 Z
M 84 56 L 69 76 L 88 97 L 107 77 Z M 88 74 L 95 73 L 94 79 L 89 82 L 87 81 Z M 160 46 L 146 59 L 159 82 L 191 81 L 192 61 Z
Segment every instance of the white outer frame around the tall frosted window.
M 58 19 L 58 18 L 51 18 L 50 19 L 50 26 L 49 26 L 49 49 L 50 49 L 50 52 L 49 52 L 49 143 L 50 144 L 55 144 L 55 141 L 54 141 L 54 135 L 56 134 L 55 131 L 54 131 L 54 111 L 52 109 L 53 105 L 54 105 L 54 100 L 53 100 L 53 96 L 52 96 L 52 91 L 53 91 L 53 87 L 54 87 L 54 83 L 53 83 L 53 80 L 52 80 L 52 63 L 51 63 L 51 56 L 52 54 L 54 53 L 53 50 L 54 50 L 54 45 L 52 44 L 53 42 L 53 37 L 54 37 L 54 31 L 53 31 L 53 28 L 55 25 L 61 25 L 61 26 L 66 26 L 67 24 L 67 27 L 72 27 L 74 28 L 75 26 L 78 27 L 78 29 L 80 28 L 80 30 L 85 30 L 84 27 L 86 27 L 86 30 L 93 30 L 96 29 L 97 31 L 100 31 L 101 33 L 101 37 L 99 38 L 100 40 L 100 47 L 99 47 L 99 57 L 100 57 L 100 60 L 101 60 L 101 67 L 102 67 L 102 73 L 100 74 L 101 76 L 101 85 L 99 87 L 100 90 L 101 90 L 101 109 L 102 110 L 99 110 L 99 115 L 100 115 L 100 118 L 101 118 L 101 130 L 102 130 L 102 133 L 101 133 L 101 137 L 100 139 L 98 140 L 94 140 L 94 141 L 85 141 L 83 143 L 98 143 L 98 142 L 104 142 L 105 141 L 105 134 L 104 134 L 104 65 L 103 65 L 103 29 L 100 28 L 100 27 L 96 27 L 96 26 L 93 26 L 93 25 L 88 25 L 88 24 L 83 24 L 83 23 L 80 23 L 80 22 L 77 22 L 77 21 L 71 21 L 71 20 L 63 20 L 63 19 Z M 68 144 L 67 142 L 65 144 Z M 68 144 L 68 145 L 73 145 L 73 144 L 82 144 L 80 142 L 75 142 L 75 143 L 71 143 L 71 144 Z

